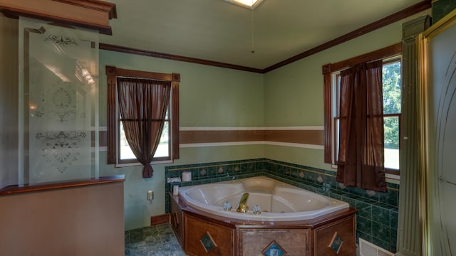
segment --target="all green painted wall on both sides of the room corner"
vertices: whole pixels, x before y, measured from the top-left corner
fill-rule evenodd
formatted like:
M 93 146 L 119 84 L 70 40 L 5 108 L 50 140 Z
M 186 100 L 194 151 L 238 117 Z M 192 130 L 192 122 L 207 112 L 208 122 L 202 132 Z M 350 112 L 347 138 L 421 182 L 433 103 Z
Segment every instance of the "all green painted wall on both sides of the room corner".
M 410 20 L 418 14 L 407 18 Z M 2 17 L 3 18 L 3 17 Z M 100 50 L 100 126 L 106 126 L 105 65 L 160 73 L 180 73 L 181 127 L 287 127 L 323 125 L 321 65 L 368 53 L 400 42 L 399 21 L 339 46 L 311 55 L 265 75 L 160 58 Z M 5 30 L 0 31 L 5 36 Z M 5 71 L 4 66 L 0 66 Z M 4 87 L 4 82 L 1 84 Z M 4 110 L 4 107 L 1 107 Z M 5 132 L 11 135 L 11 132 Z M 13 132 L 14 135 L 14 132 Z M 5 153 L 2 149 L 1 153 Z M 150 216 L 165 213 L 165 166 L 214 161 L 268 158 L 321 169 L 321 149 L 288 146 L 212 146 L 181 148 L 174 164 L 154 165 L 152 178 L 141 176 L 142 166 L 114 168 L 100 153 L 100 176 L 125 174 L 125 229 L 150 225 Z M 155 199 L 147 201 L 147 191 Z

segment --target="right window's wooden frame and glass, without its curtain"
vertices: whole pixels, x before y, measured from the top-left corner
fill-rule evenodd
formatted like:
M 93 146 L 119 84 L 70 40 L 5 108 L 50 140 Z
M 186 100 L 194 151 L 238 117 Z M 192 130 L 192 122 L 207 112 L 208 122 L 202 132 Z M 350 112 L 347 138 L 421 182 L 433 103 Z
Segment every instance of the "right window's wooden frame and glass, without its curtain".
M 325 80 L 325 162 L 338 159 L 340 71 L 369 60 L 383 60 L 384 165 L 387 174 L 399 174 L 400 149 L 400 43 L 340 63 L 323 66 Z

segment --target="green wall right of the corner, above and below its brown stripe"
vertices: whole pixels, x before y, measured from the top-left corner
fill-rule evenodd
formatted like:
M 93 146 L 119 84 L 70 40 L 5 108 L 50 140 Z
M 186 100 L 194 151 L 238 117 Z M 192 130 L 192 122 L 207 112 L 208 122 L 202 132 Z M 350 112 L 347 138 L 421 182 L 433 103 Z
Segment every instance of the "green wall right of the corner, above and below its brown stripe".
M 338 46 L 323 50 L 264 75 L 264 124 L 268 127 L 323 126 L 323 75 L 321 66 L 353 58 L 400 43 L 402 23 L 424 11 Z M 292 164 L 331 169 L 323 162 L 323 149 L 265 146 L 264 157 Z

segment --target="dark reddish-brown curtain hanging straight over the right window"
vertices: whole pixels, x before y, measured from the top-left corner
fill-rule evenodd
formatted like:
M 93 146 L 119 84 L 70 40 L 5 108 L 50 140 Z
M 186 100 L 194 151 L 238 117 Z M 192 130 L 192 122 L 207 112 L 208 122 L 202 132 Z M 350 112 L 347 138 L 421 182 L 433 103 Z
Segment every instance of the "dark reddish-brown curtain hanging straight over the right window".
M 385 192 L 382 60 L 341 71 L 339 117 L 336 180 Z

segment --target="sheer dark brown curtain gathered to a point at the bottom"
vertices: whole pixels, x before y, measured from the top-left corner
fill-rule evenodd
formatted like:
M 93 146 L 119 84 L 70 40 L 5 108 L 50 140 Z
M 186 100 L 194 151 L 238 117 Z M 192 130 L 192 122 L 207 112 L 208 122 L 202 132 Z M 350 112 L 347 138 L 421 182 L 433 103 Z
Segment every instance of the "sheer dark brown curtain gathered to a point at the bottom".
M 160 143 L 171 82 L 117 78 L 120 116 L 133 154 L 144 166 L 142 177 L 152 177 L 150 165 Z

